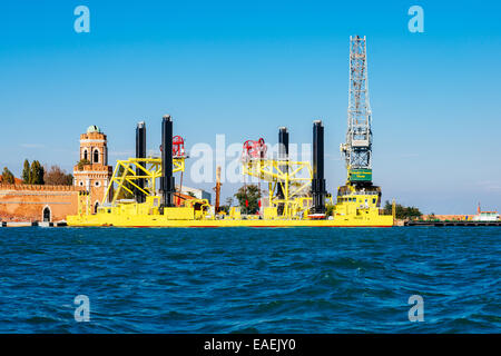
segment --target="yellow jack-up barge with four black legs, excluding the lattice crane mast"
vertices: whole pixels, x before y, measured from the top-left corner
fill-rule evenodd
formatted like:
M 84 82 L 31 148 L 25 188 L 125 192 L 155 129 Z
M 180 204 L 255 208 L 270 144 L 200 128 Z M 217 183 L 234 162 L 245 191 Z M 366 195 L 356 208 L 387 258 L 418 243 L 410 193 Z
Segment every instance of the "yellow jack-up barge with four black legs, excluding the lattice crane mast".
M 146 158 L 146 127 L 140 122 L 136 135 L 136 158 L 119 160 L 105 201 L 92 214 L 87 192 L 79 196 L 78 215 L 68 216 L 69 226 L 79 227 L 391 227 L 394 216 L 380 209 L 381 190 L 348 181 L 333 199 L 325 190 L 324 127 L 313 126 L 313 168 L 307 161 L 288 160 L 288 132 L 279 130 L 279 157 L 267 159 L 264 140 L 247 141 L 242 159 L 244 175 L 268 184 L 268 201 L 258 215 L 243 215 L 232 207 L 228 214 L 216 212 L 206 199 L 179 199 L 174 174 L 185 170 L 184 149 L 176 138 L 173 144 L 173 120 L 163 120 L 161 158 Z M 250 142 L 250 144 L 249 144 Z M 174 147 L 173 147 L 174 145 Z M 177 146 L 176 146 L 177 145 Z M 306 176 L 306 177 L 305 177 Z M 160 180 L 160 191 L 156 181 Z M 114 189 L 114 185 L 117 189 Z M 125 189 L 135 199 L 119 200 Z M 108 199 L 112 196 L 111 199 Z M 109 201 L 107 201 L 109 200 Z M 327 216 L 327 206 L 333 206 Z

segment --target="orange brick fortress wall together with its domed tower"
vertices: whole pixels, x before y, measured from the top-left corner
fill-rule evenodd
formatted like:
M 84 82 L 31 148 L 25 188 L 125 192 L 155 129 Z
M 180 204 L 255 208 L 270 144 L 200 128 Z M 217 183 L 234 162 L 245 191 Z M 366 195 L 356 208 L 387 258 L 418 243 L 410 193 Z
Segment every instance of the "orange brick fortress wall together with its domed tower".
M 0 184 L 1 221 L 60 221 L 78 212 L 78 195 L 89 191 L 92 208 L 102 202 L 112 167 L 108 166 L 107 137 L 91 126 L 80 136 L 80 161 L 73 168 L 72 186 Z

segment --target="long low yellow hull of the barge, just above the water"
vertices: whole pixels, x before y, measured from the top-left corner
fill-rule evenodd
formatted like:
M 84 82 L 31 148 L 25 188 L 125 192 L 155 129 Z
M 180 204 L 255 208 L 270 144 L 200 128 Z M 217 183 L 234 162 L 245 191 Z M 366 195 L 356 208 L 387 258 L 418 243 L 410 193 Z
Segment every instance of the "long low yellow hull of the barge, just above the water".
M 346 198 L 347 199 L 347 198 Z M 120 202 L 101 207 L 97 214 L 80 209 L 78 215 L 68 216 L 68 226 L 115 226 L 115 227 L 391 227 L 393 216 L 382 215 L 373 196 L 356 196 L 350 201 L 341 199 L 330 219 L 278 217 L 276 208 L 265 208 L 259 216 L 242 217 L 238 208 L 222 218 L 210 216 L 206 200 L 190 200 L 185 207 L 159 208 L 158 197 L 147 197 L 146 202 Z M 202 204 L 197 205 L 198 202 Z

